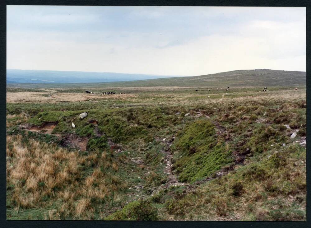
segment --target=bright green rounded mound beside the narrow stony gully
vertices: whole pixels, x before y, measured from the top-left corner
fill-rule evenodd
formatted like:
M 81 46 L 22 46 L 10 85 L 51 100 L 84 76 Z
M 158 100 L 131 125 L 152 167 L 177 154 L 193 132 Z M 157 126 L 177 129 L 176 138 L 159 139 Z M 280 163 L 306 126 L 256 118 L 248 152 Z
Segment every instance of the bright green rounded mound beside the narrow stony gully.
M 197 120 L 181 133 L 175 144 L 179 158 L 174 164 L 180 181 L 203 179 L 233 162 L 230 147 L 215 133 L 208 120 Z

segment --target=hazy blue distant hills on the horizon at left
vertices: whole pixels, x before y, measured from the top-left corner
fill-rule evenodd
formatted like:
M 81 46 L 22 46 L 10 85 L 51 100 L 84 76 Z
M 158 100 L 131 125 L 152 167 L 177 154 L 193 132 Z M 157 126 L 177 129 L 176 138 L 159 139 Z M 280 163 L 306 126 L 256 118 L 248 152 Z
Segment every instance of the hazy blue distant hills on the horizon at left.
M 170 75 L 110 72 L 46 71 L 7 69 L 7 83 L 91 83 L 176 77 Z

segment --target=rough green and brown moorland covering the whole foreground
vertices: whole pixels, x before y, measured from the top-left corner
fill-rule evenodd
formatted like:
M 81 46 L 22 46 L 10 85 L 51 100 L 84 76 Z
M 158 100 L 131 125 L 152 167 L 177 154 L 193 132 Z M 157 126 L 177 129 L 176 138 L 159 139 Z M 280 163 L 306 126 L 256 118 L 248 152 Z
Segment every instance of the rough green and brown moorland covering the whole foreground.
M 304 87 L 198 89 L 7 103 L 7 219 L 305 221 Z

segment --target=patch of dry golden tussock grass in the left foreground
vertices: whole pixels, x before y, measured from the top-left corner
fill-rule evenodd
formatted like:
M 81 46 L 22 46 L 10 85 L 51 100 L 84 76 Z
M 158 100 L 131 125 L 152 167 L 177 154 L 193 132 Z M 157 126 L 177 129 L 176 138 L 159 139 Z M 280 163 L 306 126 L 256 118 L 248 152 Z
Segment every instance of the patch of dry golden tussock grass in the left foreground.
M 82 167 L 87 163 L 94 170 L 81 179 L 85 175 Z M 93 207 L 102 206 L 98 202 L 127 187 L 118 176 L 102 172 L 101 166 L 103 160 L 96 154 L 83 156 L 34 140 L 25 144 L 20 135 L 7 136 L 7 185 L 13 188 L 8 197 L 17 211 L 53 203 L 57 208 L 47 212 L 45 219 L 92 219 Z M 114 167 L 117 169 L 116 163 Z M 43 201 L 46 197 L 49 200 Z

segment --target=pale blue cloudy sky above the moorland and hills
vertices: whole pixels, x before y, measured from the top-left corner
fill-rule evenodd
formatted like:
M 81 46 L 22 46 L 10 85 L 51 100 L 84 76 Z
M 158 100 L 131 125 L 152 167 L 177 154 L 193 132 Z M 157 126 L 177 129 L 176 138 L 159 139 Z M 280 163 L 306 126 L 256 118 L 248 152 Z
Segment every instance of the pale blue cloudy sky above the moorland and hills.
M 306 8 L 7 6 L 7 68 L 306 71 Z

